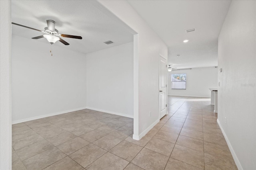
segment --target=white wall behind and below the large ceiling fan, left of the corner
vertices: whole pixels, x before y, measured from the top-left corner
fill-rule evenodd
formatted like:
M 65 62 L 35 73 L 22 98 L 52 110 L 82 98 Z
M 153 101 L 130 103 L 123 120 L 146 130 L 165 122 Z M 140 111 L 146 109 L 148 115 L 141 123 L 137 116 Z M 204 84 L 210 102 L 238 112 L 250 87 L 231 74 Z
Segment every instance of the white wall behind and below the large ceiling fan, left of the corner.
M 53 56 L 48 43 L 12 36 L 13 123 L 86 107 L 86 55 L 68 46 L 52 50 Z

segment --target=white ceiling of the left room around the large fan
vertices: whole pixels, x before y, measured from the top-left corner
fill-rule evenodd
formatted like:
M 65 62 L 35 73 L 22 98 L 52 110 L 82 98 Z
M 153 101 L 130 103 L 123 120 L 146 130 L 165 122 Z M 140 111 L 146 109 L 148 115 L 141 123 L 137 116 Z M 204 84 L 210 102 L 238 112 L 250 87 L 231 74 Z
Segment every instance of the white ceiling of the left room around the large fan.
M 12 0 L 12 22 L 44 31 L 46 20 L 56 22 L 59 33 L 82 36 L 82 39 L 62 38 L 70 45 L 57 41 L 56 46 L 81 53 L 90 53 L 133 41 L 130 33 L 116 17 L 102 12 L 95 2 L 83 0 Z M 38 31 L 12 25 L 12 34 L 32 38 L 43 35 Z M 32 39 L 48 43 L 45 38 Z M 114 43 L 106 45 L 103 42 Z M 48 49 L 47 49 L 48 50 Z

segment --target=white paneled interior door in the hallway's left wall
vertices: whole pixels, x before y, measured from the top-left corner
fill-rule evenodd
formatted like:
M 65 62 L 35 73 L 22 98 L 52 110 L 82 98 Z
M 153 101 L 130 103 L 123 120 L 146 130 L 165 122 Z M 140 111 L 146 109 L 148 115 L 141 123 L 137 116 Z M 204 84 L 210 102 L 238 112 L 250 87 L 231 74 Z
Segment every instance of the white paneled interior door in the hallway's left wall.
M 159 57 L 159 118 L 166 115 L 166 59 Z

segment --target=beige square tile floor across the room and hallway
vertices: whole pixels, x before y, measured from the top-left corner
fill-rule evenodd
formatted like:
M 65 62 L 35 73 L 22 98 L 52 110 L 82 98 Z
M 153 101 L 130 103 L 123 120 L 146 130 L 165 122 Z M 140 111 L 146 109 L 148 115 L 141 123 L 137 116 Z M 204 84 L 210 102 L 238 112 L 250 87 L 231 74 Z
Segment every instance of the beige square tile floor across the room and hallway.
M 208 98 L 168 96 L 140 141 L 133 119 L 84 109 L 12 126 L 13 170 L 236 170 Z

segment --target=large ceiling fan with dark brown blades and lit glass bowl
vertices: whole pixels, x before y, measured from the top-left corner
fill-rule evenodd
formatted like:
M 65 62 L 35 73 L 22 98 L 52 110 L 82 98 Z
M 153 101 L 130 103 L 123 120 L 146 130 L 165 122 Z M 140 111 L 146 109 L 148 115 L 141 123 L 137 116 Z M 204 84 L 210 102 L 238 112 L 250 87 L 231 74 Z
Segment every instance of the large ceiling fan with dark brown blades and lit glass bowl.
M 67 43 L 66 41 L 64 41 L 60 37 L 82 39 L 81 36 L 59 34 L 59 31 L 57 29 L 55 29 L 55 21 L 53 21 L 53 20 L 46 20 L 46 22 L 47 22 L 47 27 L 44 28 L 44 31 L 41 31 L 41 30 L 35 29 L 35 28 L 31 28 L 31 27 L 27 27 L 27 26 L 24 26 L 24 25 L 20 25 L 18 23 L 14 23 L 14 22 L 12 22 L 12 24 L 18 25 L 18 26 L 21 26 L 21 27 L 25 27 L 25 28 L 29 28 L 29 29 L 33 29 L 35 31 L 39 31 L 39 32 L 42 32 L 42 33 L 45 33 L 44 35 L 40 35 L 38 37 L 33 37 L 32 39 L 46 38 L 47 41 L 49 41 L 49 43 L 51 45 L 53 43 L 55 43 L 56 41 L 60 41 L 64 45 L 69 45 L 69 43 Z M 50 50 L 50 53 L 52 53 L 52 49 Z

